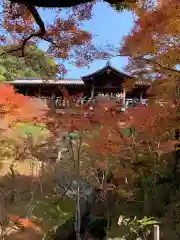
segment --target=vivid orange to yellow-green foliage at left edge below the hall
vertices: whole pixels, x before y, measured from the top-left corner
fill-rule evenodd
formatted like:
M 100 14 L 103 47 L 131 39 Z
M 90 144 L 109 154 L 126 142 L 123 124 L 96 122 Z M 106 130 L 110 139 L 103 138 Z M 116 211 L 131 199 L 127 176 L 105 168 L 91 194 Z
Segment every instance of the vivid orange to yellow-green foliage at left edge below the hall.
M 1 164 L 5 165 L 2 174 L 6 174 L 11 164 L 30 160 L 30 148 L 32 150 L 32 147 L 35 149 L 41 145 L 49 137 L 49 132 L 45 125 L 39 123 L 38 126 L 38 118 L 43 118 L 47 113 L 43 105 L 37 105 L 29 97 L 16 93 L 11 85 L 0 85 L 0 91 L 0 151 Z

